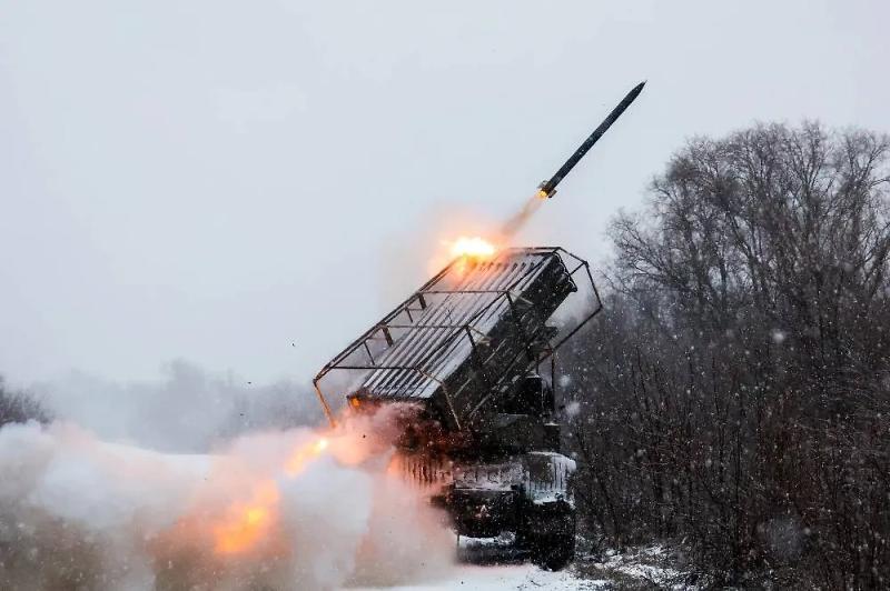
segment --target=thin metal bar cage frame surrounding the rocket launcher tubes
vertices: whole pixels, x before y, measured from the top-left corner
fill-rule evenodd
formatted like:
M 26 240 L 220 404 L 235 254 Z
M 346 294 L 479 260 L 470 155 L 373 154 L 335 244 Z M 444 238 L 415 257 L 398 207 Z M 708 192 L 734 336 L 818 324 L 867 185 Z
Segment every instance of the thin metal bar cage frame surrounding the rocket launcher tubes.
M 449 347 L 454 343 L 455 339 L 462 337 L 463 333 L 466 333 L 466 337 L 469 340 L 472 347 L 471 359 L 477 359 L 476 352 L 476 339 L 473 337 L 473 332 L 478 333 L 481 338 L 487 338 L 486 334 L 479 332 L 473 325 L 474 320 L 481 318 L 485 314 L 493 305 L 495 305 L 498 301 L 502 301 L 502 298 L 506 299 L 507 304 L 510 307 L 511 313 L 516 319 L 516 325 L 520 329 L 520 334 L 525 341 L 525 350 L 526 355 L 516 355 L 514 359 L 506 364 L 504 370 L 498 373 L 496 377 L 485 375 L 486 382 L 492 384 L 497 384 L 503 375 L 507 373 L 511 369 L 514 368 L 515 363 L 520 361 L 520 358 L 526 357 L 526 364 L 527 367 L 540 365 L 542 362 L 551 359 L 551 369 L 555 371 L 555 360 L 554 353 L 556 352 L 560 347 L 562 347 L 566 341 L 568 341 L 572 337 L 574 337 L 578 330 L 581 330 L 587 322 L 590 322 L 601 310 L 602 310 L 602 301 L 600 299 L 600 292 L 596 289 L 596 284 L 593 281 L 593 274 L 591 273 L 590 266 L 583 259 L 576 257 L 575 254 L 568 252 L 567 250 L 561 247 L 533 247 L 533 248 L 513 248 L 513 249 L 505 249 L 507 252 L 520 252 L 523 254 L 556 254 L 560 257 L 563 266 L 565 267 L 566 271 L 568 272 L 568 277 L 575 283 L 578 284 L 578 276 L 582 280 L 586 279 L 585 283 L 589 282 L 591 286 L 591 293 L 592 299 L 594 301 L 593 309 L 590 313 L 587 313 L 584 318 L 578 320 L 567 333 L 565 333 L 558 341 L 555 343 L 548 342 L 548 347 L 544 348 L 537 355 L 534 355 L 534 348 L 532 347 L 533 342 L 536 340 L 541 340 L 541 332 L 546 329 L 546 318 L 541 319 L 541 327 L 537 331 L 533 334 L 526 334 L 522 322 L 518 321 L 518 313 L 516 311 L 516 301 L 515 294 L 513 290 L 520 284 L 525 278 L 527 278 L 531 273 L 536 272 L 541 266 L 544 264 L 546 261 L 545 258 L 542 258 L 536 264 L 530 267 L 522 276 L 516 278 L 506 289 L 501 290 L 459 290 L 459 289 L 436 289 L 438 283 L 443 280 L 445 276 L 452 270 L 452 268 L 461 262 L 461 259 L 455 259 L 451 263 L 448 263 L 442 271 L 436 273 L 429 281 L 424 283 L 421 289 L 415 291 L 409 298 L 398 304 L 392 312 L 385 315 L 380 321 L 375 323 L 370 329 L 365 331 L 360 337 L 349 343 L 343 351 L 340 351 L 334 359 L 332 359 L 328 363 L 326 363 L 322 370 L 315 375 L 313 379 L 313 387 L 315 388 L 315 392 L 318 395 L 318 400 L 322 403 L 322 408 L 325 411 L 325 415 L 327 417 L 328 421 L 332 425 L 335 424 L 334 414 L 330 410 L 330 405 L 327 402 L 327 399 L 322 391 L 322 387 L 319 382 L 330 372 L 333 371 L 370 371 L 370 370 L 380 370 L 380 369 L 393 369 L 393 370 L 408 370 L 408 371 L 417 371 L 425 375 L 426 378 L 438 381 L 442 383 L 442 380 L 435 375 L 431 375 L 425 372 L 424 363 L 428 361 L 433 355 L 438 353 L 443 348 Z M 575 264 L 570 264 L 570 262 L 574 261 Z M 408 320 L 412 321 L 412 310 L 417 311 L 425 310 L 427 308 L 427 302 L 425 296 L 436 296 L 436 294 L 451 294 L 451 293 L 497 293 L 498 296 L 494 298 L 491 302 L 484 305 L 482 309 L 476 311 L 469 319 L 466 320 L 464 323 L 458 324 L 405 324 L 398 322 L 398 318 L 402 314 L 406 314 Z M 415 305 L 412 308 L 412 305 Z M 419 307 L 419 308 L 417 308 Z M 383 365 L 375 361 L 374 354 L 372 354 L 372 344 L 376 347 L 376 343 L 380 340 L 385 341 L 386 348 L 389 348 L 394 344 L 394 339 L 392 337 L 393 331 L 400 331 L 400 330 L 413 330 L 418 328 L 428 328 L 428 329 L 441 329 L 441 330 L 449 330 L 452 331 L 439 344 L 433 347 L 424 357 L 414 365 Z M 392 330 L 394 329 L 394 330 Z M 365 355 L 367 357 L 366 363 L 348 363 L 347 360 L 353 357 L 356 352 L 364 350 Z M 483 368 L 485 369 L 485 368 Z M 449 410 L 453 414 L 453 418 L 458 427 L 459 420 L 457 415 L 454 413 L 454 408 L 452 407 L 451 397 L 448 392 L 445 391 L 445 399 L 449 407 Z M 479 408 L 482 408 L 485 402 L 491 398 L 492 393 L 484 397 L 482 401 L 479 401 L 476 407 L 471 411 L 471 413 L 476 412 Z

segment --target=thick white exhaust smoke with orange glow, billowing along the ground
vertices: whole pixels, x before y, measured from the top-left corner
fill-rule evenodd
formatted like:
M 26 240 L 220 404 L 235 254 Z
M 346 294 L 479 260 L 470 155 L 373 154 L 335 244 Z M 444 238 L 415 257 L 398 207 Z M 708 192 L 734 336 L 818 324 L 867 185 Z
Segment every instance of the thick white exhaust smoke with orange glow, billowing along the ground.
M 70 423 L 4 425 L 0 588 L 337 589 L 442 573 L 453 539 L 387 475 L 392 421 L 379 414 L 214 454 L 107 443 Z

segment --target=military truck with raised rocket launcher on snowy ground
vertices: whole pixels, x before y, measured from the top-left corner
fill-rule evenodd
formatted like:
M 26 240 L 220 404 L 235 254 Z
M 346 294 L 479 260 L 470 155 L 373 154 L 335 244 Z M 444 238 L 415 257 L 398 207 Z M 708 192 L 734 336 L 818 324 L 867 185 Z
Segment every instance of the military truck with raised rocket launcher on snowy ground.
M 574 303 L 572 303 L 574 302 Z M 408 404 L 396 467 L 458 535 L 512 534 L 558 569 L 574 554 L 575 461 L 561 452 L 555 353 L 601 309 L 562 248 L 462 257 L 327 363 L 314 383 L 356 412 Z

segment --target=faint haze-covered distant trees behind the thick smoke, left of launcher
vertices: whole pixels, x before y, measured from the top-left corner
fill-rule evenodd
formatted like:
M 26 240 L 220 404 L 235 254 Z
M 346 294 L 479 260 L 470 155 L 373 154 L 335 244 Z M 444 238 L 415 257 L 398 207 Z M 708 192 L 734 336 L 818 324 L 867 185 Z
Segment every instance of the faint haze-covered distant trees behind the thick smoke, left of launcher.
M 107 441 L 161 451 L 205 452 L 244 432 L 324 419 L 308 385 L 254 383 L 184 360 L 165 364 L 155 380 L 120 382 L 70 372 L 34 389 L 60 420 Z

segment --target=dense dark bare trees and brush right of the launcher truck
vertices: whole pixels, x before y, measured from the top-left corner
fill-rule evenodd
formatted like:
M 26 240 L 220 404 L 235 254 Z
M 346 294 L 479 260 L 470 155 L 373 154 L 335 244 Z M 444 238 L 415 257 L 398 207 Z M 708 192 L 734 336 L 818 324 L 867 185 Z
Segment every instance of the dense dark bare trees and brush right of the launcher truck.
M 562 364 L 583 529 L 675 540 L 714 585 L 890 584 L 887 136 L 689 141 L 610 227 Z

